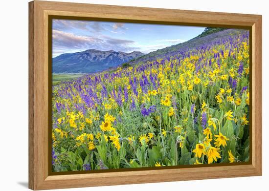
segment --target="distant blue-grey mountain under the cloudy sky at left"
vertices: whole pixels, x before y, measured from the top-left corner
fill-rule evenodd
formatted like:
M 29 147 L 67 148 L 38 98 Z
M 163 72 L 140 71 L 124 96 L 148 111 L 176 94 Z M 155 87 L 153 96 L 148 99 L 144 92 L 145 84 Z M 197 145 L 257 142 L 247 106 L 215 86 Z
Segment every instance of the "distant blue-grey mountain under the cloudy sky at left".
M 142 52 L 116 52 L 89 49 L 71 54 L 61 54 L 52 59 L 53 73 L 94 73 L 129 62 L 143 56 Z

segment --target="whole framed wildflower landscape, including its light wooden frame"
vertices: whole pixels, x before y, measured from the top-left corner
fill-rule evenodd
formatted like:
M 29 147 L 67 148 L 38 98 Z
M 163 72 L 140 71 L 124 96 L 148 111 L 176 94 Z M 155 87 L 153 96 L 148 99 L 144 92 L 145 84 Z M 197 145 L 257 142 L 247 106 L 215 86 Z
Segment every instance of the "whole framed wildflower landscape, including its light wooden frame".
M 29 188 L 262 175 L 262 16 L 29 2 Z

